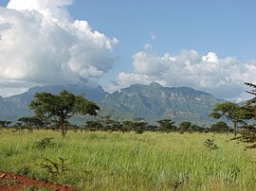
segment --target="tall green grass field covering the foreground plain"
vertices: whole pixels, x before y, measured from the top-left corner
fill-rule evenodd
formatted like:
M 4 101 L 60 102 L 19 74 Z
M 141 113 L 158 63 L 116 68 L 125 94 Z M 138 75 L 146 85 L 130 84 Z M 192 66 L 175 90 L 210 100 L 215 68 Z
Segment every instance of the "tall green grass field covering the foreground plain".
M 46 137 L 52 137 L 53 144 L 44 148 L 38 142 Z M 4 130 L 0 132 L 0 170 L 74 184 L 82 191 L 253 191 L 256 150 L 244 150 L 245 145 L 229 141 L 231 137 L 68 131 L 62 138 L 52 130 Z M 207 148 L 207 139 L 214 139 L 219 148 Z

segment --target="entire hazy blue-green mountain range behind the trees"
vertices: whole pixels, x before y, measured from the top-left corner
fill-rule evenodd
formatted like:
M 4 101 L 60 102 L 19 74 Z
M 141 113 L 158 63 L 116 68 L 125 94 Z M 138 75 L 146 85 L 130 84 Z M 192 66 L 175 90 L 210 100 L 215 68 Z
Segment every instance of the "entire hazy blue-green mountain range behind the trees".
M 213 106 L 217 102 L 225 101 L 189 87 L 163 87 L 156 82 L 149 85 L 134 84 L 112 94 L 105 92 L 101 86 L 91 87 L 86 83 L 48 85 L 30 88 L 26 93 L 17 96 L 0 96 L 0 120 L 15 121 L 21 116 L 32 115 L 27 104 L 33 100 L 35 93 L 59 94 L 62 90 L 75 95 L 84 94 L 87 99 L 97 102 L 103 116 L 111 115 L 119 121 L 143 119 L 151 124 L 166 118 L 176 122 L 185 120 L 196 124 L 209 124 L 212 119 L 208 115 Z

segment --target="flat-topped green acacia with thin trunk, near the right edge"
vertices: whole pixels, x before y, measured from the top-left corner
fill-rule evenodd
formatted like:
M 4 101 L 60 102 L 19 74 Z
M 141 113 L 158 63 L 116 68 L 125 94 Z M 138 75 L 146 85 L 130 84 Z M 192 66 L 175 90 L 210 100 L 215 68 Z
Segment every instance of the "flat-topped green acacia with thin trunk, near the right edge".
M 249 118 L 249 113 L 244 107 L 240 107 L 233 102 L 217 103 L 210 113 L 213 118 L 219 119 L 220 117 L 226 117 L 233 123 L 234 136 L 237 135 L 238 124 L 245 124 L 245 120 Z

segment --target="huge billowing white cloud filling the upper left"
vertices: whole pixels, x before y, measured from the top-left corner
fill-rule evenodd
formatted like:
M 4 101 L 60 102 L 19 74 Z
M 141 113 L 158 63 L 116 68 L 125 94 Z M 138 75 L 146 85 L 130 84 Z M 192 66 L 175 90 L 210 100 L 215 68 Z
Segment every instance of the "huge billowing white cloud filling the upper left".
M 116 38 L 73 20 L 71 0 L 10 0 L 0 7 L 0 95 L 45 84 L 101 78 L 113 68 Z M 8 88 L 7 88 L 8 87 Z

